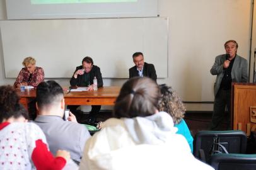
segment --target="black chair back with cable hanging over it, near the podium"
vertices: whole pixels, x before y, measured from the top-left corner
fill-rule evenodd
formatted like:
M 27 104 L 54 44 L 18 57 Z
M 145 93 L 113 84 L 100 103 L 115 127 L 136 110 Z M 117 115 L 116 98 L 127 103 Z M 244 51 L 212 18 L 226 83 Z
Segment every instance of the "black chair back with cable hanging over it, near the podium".
M 214 137 L 219 137 L 219 142 L 224 145 L 228 153 L 245 154 L 247 149 L 245 132 L 241 130 L 200 131 L 195 134 L 194 156 L 207 162 Z

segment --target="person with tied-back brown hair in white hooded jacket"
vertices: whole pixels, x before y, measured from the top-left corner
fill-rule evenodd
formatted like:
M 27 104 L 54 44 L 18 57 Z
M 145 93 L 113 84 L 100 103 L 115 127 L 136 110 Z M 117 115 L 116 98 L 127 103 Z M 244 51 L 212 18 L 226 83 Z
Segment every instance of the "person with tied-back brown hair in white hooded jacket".
M 86 142 L 79 169 L 213 169 L 195 159 L 147 77 L 125 82 L 113 116 Z

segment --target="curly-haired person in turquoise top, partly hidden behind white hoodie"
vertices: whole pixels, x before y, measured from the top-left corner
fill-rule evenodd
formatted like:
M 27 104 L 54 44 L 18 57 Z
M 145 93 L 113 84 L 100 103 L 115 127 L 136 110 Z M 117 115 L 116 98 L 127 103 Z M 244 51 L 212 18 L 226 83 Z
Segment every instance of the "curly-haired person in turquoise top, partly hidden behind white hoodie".
M 191 152 L 193 152 L 193 137 L 185 120 L 183 120 L 186 109 L 182 99 L 180 99 L 176 91 L 173 91 L 172 87 L 166 86 L 165 84 L 160 85 L 160 91 L 161 99 L 158 104 L 159 111 L 165 111 L 172 116 L 174 126 L 178 128 L 177 133 L 187 139 Z

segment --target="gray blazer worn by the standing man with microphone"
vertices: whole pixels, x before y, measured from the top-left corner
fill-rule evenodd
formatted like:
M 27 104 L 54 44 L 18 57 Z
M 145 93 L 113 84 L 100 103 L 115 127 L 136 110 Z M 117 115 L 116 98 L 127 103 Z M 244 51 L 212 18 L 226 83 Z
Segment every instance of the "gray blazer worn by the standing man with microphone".
M 214 96 L 219 91 L 221 81 L 224 76 L 223 63 L 226 60 L 226 54 L 218 55 L 211 68 L 211 74 L 217 75 L 216 82 L 214 83 Z M 236 55 L 232 70 L 232 82 L 248 82 L 248 63 L 247 60 L 239 55 Z

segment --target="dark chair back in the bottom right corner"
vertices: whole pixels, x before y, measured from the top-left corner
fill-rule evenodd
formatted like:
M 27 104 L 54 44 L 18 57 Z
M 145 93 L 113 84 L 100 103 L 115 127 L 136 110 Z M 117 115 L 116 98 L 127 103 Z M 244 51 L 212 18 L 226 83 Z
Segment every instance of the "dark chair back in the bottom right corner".
M 256 154 L 214 154 L 209 164 L 215 170 L 255 170 Z

